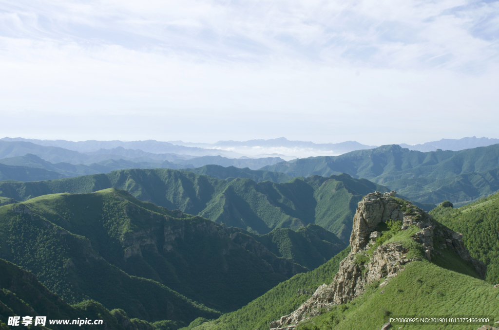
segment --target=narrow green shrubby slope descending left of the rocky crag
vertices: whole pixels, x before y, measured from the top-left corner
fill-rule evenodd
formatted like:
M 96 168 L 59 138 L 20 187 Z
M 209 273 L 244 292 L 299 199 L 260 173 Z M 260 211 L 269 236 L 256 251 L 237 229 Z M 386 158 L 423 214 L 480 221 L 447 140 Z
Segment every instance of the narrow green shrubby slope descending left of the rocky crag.
M 340 261 L 349 252 L 350 248 L 347 247 L 317 269 L 295 275 L 279 283 L 275 288 L 238 311 L 224 314 L 219 319 L 210 322 L 198 320 L 201 325 L 194 327 L 193 323 L 182 330 L 268 330 L 268 324 L 271 321 L 293 312 L 310 298 L 320 285 L 330 283 L 339 269 Z

